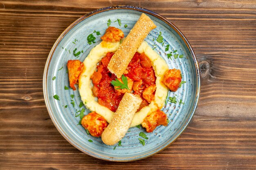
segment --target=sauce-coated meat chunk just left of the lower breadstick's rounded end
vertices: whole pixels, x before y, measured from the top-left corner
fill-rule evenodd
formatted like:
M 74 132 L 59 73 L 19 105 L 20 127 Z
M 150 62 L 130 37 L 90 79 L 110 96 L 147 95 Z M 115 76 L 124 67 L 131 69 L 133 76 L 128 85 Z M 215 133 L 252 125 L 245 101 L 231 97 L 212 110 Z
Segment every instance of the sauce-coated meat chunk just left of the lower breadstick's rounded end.
M 106 120 L 96 112 L 84 116 L 81 124 L 94 137 L 100 137 L 102 132 L 108 126 Z

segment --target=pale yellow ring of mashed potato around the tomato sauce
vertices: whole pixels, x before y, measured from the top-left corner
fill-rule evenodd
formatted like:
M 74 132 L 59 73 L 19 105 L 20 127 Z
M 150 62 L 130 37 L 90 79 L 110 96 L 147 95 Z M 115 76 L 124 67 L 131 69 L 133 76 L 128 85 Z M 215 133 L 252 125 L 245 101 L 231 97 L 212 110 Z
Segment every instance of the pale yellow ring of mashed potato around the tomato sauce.
M 92 94 L 92 81 L 90 80 L 91 75 L 94 73 L 97 67 L 97 63 L 106 56 L 108 52 L 117 51 L 120 46 L 119 42 L 105 42 L 102 41 L 100 44 L 95 46 L 89 53 L 89 55 L 83 61 L 84 68 L 79 77 L 79 92 L 81 99 L 85 106 L 103 116 L 108 123 L 111 121 L 114 112 L 101 106 L 97 102 L 97 97 Z M 156 86 L 155 99 L 148 106 L 142 108 L 139 112 L 135 113 L 132 120 L 132 126 L 137 126 L 145 119 L 147 115 L 154 112 L 157 109 L 161 109 L 164 106 L 164 102 L 168 93 L 168 88 L 161 82 L 164 77 L 164 73 L 168 70 L 168 65 L 150 46 L 144 41 L 137 50 L 138 53 L 145 53 L 146 56 L 151 60 L 151 64 L 155 71 Z

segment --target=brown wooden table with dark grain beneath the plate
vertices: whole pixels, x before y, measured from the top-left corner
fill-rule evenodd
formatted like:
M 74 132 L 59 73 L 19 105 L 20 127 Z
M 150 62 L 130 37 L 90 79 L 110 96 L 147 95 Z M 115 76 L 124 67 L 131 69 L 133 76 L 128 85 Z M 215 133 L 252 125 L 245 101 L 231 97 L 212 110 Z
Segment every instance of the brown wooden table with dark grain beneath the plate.
M 173 22 L 201 68 L 193 120 L 164 151 L 115 163 L 83 154 L 50 119 L 43 71 L 55 40 L 95 9 L 134 5 Z M 0 169 L 256 169 L 256 1 L 0 1 Z

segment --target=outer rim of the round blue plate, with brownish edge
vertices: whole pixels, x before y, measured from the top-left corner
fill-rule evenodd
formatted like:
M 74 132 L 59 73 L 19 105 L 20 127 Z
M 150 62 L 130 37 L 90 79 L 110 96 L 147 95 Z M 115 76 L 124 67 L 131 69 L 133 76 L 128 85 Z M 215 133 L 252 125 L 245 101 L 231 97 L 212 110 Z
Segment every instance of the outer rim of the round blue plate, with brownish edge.
M 70 29 L 72 29 L 74 26 L 76 26 L 76 24 L 78 24 L 79 22 L 81 22 L 82 20 L 85 20 L 86 18 L 89 18 L 92 15 L 95 15 L 97 13 L 101 13 L 104 11 L 109 11 L 109 10 L 113 10 L 113 9 L 129 9 L 129 10 L 135 10 L 135 11 L 140 11 L 149 15 L 153 15 L 154 17 L 164 21 L 166 24 L 168 24 L 168 26 L 170 26 L 179 36 L 180 38 L 182 38 L 183 42 L 186 44 L 186 47 L 189 49 L 189 52 L 193 58 L 193 62 L 195 64 L 195 69 L 196 69 L 196 94 L 195 94 L 195 99 L 193 102 L 193 108 L 191 110 L 191 112 L 189 113 L 189 117 L 186 121 L 186 124 L 184 124 L 184 126 L 182 128 L 180 128 L 179 131 L 176 132 L 176 134 L 174 135 L 173 138 L 171 138 L 169 141 L 166 142 L 166 146 L 161 148 L 161 146 L 159 146 L 159 148 L 148 152 L 147 154 L 144 155 L 139 155 L 139 156 L 135 156 L 135 157 L 127 157 L 126 159 L 118 159 L 118 158 L 114 158 L 114 157 L 108 157 L 105 155 L 92 155 L 90 154 L 90 151 L 88 150 L 84 150 L 83 148 L 81 148 L 80 146 L 78 146 L 76 143 L 74 143 L 72 141 L 72 139 L 70 139 L 70 137 L 68 137 L 67 135 L 65 135 L 65 132 L 63 131 L 63 129 L 61 129 L 61 127 L 58 125 L 58 122 L 54 119 L 53 117 L 53 111 L 50 105 L 50 102 L 48 100 L 48 94 L 47 94 L 47 75 L 48 75 L 48 68 L 49 68 L 49 64 L 52 60 L 52 56 L 54 54 L 54 51 L 56 50 L 56 47 L 58 46 L 58 44 L 61 42 L 61 40 L 63 39 L 63 37 L 70 31 Z M 127 6 L 127 5 L 119 5 L 119 6 L 110 6 L 110 7 L 103 7 L 101 9 L 97 9 L 94 10 L 86 15 L 83 15 L 81 18 L 79 18 L 78 20 L 76 20 L 75 22 L 73 22 L 72 24 L 70 24 L 70 26 L 68 26 L 63 33 L 61 33 L 61 35 L 58 37 L 58 39 L 56 40 L 56 42 L 54 43 L 48 57 L 47 57 L 47 61 L 45 64 L 45 69 L 44 69 L 44 74 L 43 74 L 43 94 L 44 94 L 44 99 L 45 99 L 45 104 L 48 110 L 48 113 L 54 123 L 54 125 L 56 126 L 56 128 L 58 129 L 58 131 L 61 133 L 61 135 L 70 143 L 72 144 L 74 147 L 76 147 L 77 149 L 79 149 L 80 151 L 86 153 L 87 155 L 90 155 L 92 157 L 98 158 L 98 159 L 102 159 L 102 160 L 106 160 L 106 161 L 119 161 L 119 162 L 124 162 L 124 161 L 136 161 L 139 159 L 144 159 L 146 157 L 150 157 L 152 155 L 155 155 L 156 153 L 164 150 L 165 148 L 167 148 L 168 146 L 170 146 L 174 141 L 176 141 L 176 139 L 182 134 L 182 132 L 186 129 L 186 127 L 188 126 L 189 122 L 191 121 L 194 113 L 195 113 L 195 109 L 198 105 L 198 99 L 199 99 L 199 95 L 200 95 L 200 72 L 199 72 L 199 66 L 198 66 L 198 61 L 196 59 L 195 53 L 191 47 L 191 45 L 189 44 L 188 40 L 186 39 L 186 37 L 182 34 L 182 32 L 171 22 L 169 22 L 166 18 L 164 18 L 162 15 L 159 15 L 158 13 L 155 13 L 153 11 L 150 11 L 148 9 L 145 8 L 141 8 L 141 7 L 135 7 L 135 6 Z

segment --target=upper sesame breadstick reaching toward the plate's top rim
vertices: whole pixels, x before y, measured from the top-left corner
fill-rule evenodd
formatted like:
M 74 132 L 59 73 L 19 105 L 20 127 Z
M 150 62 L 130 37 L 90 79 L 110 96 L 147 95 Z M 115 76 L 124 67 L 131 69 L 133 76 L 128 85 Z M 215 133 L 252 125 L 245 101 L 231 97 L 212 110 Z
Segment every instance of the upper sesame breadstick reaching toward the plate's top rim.
M 108 64 L 108 70 L 114 73 L 117 78 L 120 78 L 143 40 L 148 33 L 156 27 L 154 22 L 147 15 L 142 13 L 130 33 L 124 39 L 124 42 L 112 56 Z

